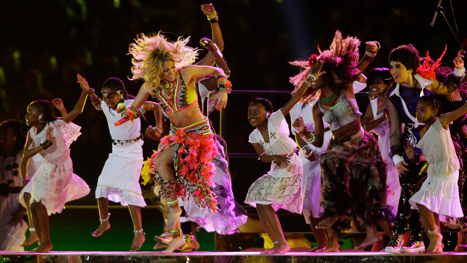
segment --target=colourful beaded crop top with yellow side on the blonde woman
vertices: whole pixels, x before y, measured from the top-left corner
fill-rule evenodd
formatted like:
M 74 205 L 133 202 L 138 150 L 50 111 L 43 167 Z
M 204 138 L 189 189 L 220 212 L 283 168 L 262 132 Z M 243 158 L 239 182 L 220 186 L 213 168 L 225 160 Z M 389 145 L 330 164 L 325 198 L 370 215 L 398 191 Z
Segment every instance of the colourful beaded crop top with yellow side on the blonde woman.
M 179 112 L 198 105 L 198 96 L 193 85 L 192 88 L 186 85 L 180 70 L 177 70 L 175 81 L 171 81 L 165 85 L 169 99 L 161 96 L 160 91 L 154 90 L 157 100 L 166 113 Z

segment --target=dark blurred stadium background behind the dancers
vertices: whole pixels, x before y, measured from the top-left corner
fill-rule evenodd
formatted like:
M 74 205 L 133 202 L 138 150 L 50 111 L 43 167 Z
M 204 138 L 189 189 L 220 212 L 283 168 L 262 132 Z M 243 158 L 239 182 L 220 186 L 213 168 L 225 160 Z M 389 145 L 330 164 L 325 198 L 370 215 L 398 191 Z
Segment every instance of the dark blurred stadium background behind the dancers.
M 467 1 L 452 0 L 459 33 L 467 36 Z M 70 111 L 81 89 L 76 74 L 100 90 L 110 77 L 125 82 L 134 95 L 141 82 L 127 79 L 130 74 L 128 44 L 141 32 L 162 30 L 171 39 L 191 36 L 191 46 L 211 38 L 206 16 L 200 11 L 205 1 L 155 0 L 50 0 L 1 1 L 0 21 L 0 121 L 12 118 L 33 100 L 62 98 Z M 364 42 L 377 40 L 382 48 L 368 70 L 387 67 L 389 51 L 412 43 L 425 55 L 437 58 L 448 44 L 443 62 L 452 64 L 459 47 L 446 21 L 439 14 L 434 27 L 430 21 L 438 0 L 222 0 L 213 1 L 219 13 L 227 63 L 236 90 L 291 91 L 290 76 L 298 72 L 287 64 L 306 59 L 329 46 L 336 29 L 344 36 L 358 36 L 361 56 Z M 443 7 L 453 21 L 450 1 Z M 201 50 L 199 57 L 205 51 Z M 368 72 L 368 70 L 366 72 Z M 288 100 L 287 93 L 259 94 L 270 99 L 275 109 Z M 229 151 L 252 153 L 248 134 L 248 101 L 258 94 L 229 96 L 225 110 L 225 132 Z M 361 109 L 364 111 L 364 109 Z M 24 119 L 21 113 L 21 119 Z M 154 122 L 152 114 L 149 123 Z M 218 116 L 218 115 L 217 115 Z M 218 118 L 212 117 L 218 123 Z M 217 120 L 216 120 L 217 119 Z M 90 185 L 92 192 L 78 203 L 95 204 L 93 190 L 111 152 L 111 141 L 104 114 L 87 103 L 74 121 L 82 126 L 78 141 L 71 146 L 74 172 Z M 143 129 L 148 125 L 142 121 Z M 146 156 L 157 142 L 145 139 Z M 254 158 L 232 159 L 233 189 L 243 203 L 249 185 L 269 169 L 269 163 Z

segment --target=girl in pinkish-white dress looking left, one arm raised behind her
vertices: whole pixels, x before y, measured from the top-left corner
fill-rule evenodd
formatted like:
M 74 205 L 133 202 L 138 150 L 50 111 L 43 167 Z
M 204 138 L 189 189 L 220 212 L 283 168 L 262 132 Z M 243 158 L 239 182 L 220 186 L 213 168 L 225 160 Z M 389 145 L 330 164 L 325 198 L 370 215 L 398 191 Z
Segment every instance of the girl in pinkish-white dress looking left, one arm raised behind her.
M 69 190 L 73 166 L 68 149 L 81 133 L 81 127 L 71 123 L 83 112 L 87 94 L 81 97 L 71 112 L 60 119 L 53 114 L 47 100 L 36 100 L 28 106 L 26 124 L 32 126 L 24 147 L 23 157 L 29 159 L 40 154 L 44 161 L 32 179 L 31 213 L 41 244 L 34 252 L 52 249 L 49 234 L 49 215 L 61 213 Z M 87 187 L 87 185 L 85 185 Z

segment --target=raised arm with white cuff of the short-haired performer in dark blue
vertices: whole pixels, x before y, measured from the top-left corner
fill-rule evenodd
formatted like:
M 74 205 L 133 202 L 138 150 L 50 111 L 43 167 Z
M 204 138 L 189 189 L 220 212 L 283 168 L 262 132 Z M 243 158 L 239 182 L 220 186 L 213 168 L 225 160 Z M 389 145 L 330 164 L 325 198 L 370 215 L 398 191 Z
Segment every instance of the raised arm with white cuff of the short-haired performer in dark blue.
M 461 55 L 461 51 L 457 52 L 457 57 L 453 59 L 454 71 L 447 76 L 446 82 L 440 83 L 436 79 L 431 79 L 432 84 L 426 85 L 426 89 L 430 92 L 439 94 L 439 95 L 449 95 L 451 94 L 459 85 L 462 75 L 464 73 L 464 56 Z

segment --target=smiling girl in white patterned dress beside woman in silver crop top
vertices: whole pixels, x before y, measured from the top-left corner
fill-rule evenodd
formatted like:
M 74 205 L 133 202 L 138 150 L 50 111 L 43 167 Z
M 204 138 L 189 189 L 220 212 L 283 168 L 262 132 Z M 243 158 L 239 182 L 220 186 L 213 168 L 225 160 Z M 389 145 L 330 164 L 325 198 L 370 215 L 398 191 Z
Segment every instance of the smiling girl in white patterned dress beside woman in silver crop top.
M 297 144 L 289 137 L 284 115 L 302 98 L 311 81 L 324 74 L 322 62 L 312 64 L 311 73 L 287 104 L 276 112 L 268 100 L 255 99 L 248 107 L 248 120 L 256 129 L 248 142 L 255 147 L 259 159 L 272 162 L 271 170 L 256 180 L 248 190 L 245 203 L 255 206 L 261 223 L 274 247 L 265 254 L 284 254 L 290 250 L 285 241 L 276 212 L 279 208 L 302 213 L 302 162 L 295 153 Z

